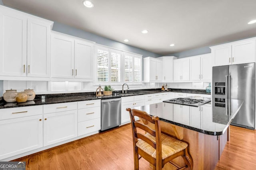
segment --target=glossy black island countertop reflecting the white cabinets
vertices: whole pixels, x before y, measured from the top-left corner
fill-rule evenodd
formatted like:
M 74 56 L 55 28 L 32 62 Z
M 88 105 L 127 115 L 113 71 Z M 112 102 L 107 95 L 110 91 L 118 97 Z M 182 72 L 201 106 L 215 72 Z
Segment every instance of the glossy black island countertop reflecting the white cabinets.
M 230 100 L 230 113 L 226 112 L 227 105 L 213 106 L 212 103 L 200 107 L 184 106 L 180 104 L 158 103 L 135 107 L 146 111 L 150 115 L 157 115 L 161 121 L 184 127 L 206 135 L 222 135 L 239 109 L 243 101 Z

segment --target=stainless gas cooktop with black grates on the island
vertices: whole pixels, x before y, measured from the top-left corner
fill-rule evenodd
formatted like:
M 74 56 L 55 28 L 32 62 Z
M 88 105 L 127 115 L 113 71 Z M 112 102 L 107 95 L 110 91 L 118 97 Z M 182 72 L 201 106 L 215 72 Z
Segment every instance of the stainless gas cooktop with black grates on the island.
M 165 100 L 163 102 L 173 103 L 173 104 L 181 104 L 181 105 L 187 105 L 187 106 L 194 106 L 194 107 L 198 107 L 198 106 L 201 106 L 201 105 L 211 102 L 210 98 L 203 98 L 203 99 L 204 100 L 194 99 L 194 98 L 175 98 L 175 99 Z

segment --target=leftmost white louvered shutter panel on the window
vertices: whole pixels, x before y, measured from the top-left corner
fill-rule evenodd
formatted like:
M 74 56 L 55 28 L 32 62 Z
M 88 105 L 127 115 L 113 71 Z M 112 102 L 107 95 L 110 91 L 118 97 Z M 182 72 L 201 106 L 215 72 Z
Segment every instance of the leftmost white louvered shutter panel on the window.
M 102 49 L 97 53 L 97 80 L 108 82 L 108 51 Z

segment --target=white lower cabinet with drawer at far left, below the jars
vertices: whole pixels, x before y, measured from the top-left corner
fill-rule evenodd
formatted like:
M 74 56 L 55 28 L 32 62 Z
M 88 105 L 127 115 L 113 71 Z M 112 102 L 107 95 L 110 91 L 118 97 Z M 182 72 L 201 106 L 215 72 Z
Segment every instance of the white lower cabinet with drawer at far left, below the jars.
M 43 147 L 42 106 L 1 109 L 0 160 Z

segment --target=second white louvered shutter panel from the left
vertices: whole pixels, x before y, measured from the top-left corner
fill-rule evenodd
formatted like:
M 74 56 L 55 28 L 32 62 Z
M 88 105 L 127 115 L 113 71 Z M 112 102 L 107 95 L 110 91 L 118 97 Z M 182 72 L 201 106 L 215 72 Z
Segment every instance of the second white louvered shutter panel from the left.
M 111 82 L 120 82 L 120 53 L 111 52 Z

